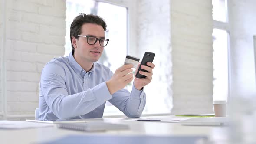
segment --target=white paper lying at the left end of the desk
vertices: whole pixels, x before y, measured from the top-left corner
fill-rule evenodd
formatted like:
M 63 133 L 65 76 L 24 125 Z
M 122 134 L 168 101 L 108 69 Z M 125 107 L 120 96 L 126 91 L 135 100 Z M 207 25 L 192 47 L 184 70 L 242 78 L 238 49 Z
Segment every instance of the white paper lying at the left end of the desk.
M 28 121 L 0 121 L 0 129 L 23 129 L 53 127 L 54 124 L 44 124 Z

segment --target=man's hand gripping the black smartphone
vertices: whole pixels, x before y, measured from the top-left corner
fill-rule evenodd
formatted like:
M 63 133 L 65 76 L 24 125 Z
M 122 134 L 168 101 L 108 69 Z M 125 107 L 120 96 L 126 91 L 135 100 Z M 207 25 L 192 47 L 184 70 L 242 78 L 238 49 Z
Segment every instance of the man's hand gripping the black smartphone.
M 155 65 L 153 63 L 151 63 L 151 62 L 147 62 L 147 66 L 139 64 L 137 66 L 136 71 L 135 71 L 135 75 L 136 75 L 136 73 L 137 73 L 137 71 L 139 69 L 139 66 L 141 66 L 141 69 L 144 69 L 144 70 L 148 71 L 148 72 L 139 71 L 139 73 L 141 75 L 145 75 L 146 76 L 145 78 L 139 79 L 139 78 L 135 77 L 135 79 L 134 79 L 134 86 L 135 86 L 135 88 L 138 89 L 138 90 L 141 90 L 144 86 L 148 85 L 151 82 L 152 75 L 153 75 L 153 69 L 154 69 Z

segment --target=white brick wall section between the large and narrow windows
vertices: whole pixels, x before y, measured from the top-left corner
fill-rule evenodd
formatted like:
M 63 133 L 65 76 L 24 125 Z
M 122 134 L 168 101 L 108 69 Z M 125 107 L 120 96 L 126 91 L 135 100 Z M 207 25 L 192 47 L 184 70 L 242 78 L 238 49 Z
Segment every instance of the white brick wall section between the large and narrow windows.
M 173 114 L 212 113 L 211 0 L 171 0 Z

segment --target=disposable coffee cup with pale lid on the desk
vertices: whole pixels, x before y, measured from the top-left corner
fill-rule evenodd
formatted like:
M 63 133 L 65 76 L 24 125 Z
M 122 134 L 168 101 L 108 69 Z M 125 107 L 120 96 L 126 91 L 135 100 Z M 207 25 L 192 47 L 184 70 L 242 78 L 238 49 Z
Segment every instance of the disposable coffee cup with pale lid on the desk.
M 226 117 L 226 101 L 213 101 L 215 117 Z

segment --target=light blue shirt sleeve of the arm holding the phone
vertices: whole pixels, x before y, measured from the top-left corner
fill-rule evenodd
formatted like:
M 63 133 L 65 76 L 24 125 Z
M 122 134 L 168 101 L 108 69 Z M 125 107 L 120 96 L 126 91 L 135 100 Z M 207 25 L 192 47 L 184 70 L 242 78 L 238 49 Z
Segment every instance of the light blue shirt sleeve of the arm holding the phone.
M 112 75 L 113 73 L 111 72 Z M 108 101 L 131 118 L 140 117 L 146 105 L 145 92 L 143 89 L 137 90 L 134 85 L 131 93 L 128 90 L 121 89 L 112 94 L 112 97 Z

